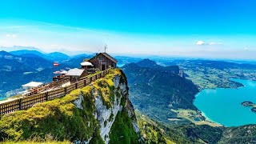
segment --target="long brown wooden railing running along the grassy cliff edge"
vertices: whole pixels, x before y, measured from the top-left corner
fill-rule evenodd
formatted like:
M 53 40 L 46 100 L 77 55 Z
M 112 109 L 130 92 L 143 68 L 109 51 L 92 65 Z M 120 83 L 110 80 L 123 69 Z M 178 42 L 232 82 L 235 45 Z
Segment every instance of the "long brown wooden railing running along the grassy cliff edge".
M 91 82 L 94 82 L 99 78 L 105 77 L 106 74 L 110 74 L 110 70 L 113 69 L 110 68 L 108 70 L 104 70 L 93 75 L 88 75 L 85 78 L 82 78 L 82 80 L 80 80 L 79 82 L 72 83 L 70 84 L 70 86 L 62 87 L 57 90 L 46 91 L 41 94 L 34 94 L 28 97 L 16 98 L 8 102 L 0 103 L 0 115 L 10 114 L 17 110 L 26 110 L 37 103 L 46 102 L 55 98 L 61 98 L 66 94 L 69 94 L 72 90 L 88 86 Z

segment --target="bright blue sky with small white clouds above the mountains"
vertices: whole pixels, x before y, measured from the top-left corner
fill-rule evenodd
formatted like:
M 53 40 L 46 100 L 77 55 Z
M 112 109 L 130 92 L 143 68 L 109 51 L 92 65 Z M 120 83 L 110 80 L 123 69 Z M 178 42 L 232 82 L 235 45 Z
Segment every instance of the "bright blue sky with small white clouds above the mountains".
M 256 58 L 254 0 L 2 0 L 0 46 Z

